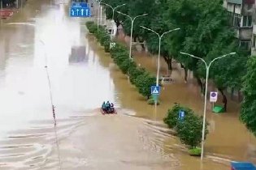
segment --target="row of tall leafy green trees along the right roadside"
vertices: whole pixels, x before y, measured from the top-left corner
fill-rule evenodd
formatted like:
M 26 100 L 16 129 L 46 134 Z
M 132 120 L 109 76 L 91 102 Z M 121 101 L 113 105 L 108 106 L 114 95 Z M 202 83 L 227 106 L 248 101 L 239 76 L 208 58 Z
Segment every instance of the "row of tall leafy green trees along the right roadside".
M 180 52 L 191 53 L 210 62 L 215 57 L 226 53 L 236 52 L 236 56 L 225 57 L 213 63 L 210 69 L 210 80 L 215 83 L 227 105 L 225 90 L 229 87 L 242 91 L 244 100 L 241 105 L 241 121 L 247 128 L 256 134 L 256 57 L 250 57 L 248 49 L 240 46 L 235 38 L 235 30 L 230 27 L 232 21 L 228 12 L 223 8 L 223 0 L 106 0 L 102 1 L 115 10 L 115 23 L 122 25 L 126 35 L 130 35 L 131 20 L 116 11 L 135 17 L 132 39 L 146 43 L 150 53 L 158 53 L 158 37 L 147 30 L 153 29 L 160 35 L 173 28 L 180 31 L 163 37 L 161 55 L 167 62 L 169 70 L 172 69 L 171 61 L 180 62 L 187 71 L 193 71 L 198 85 L 204 91 L 206 68 L 200 60 L 181 55 Z M 112 10 L 106 6 L 106 17 L 112 18 Z M 145 48 L 142 45 L 142 48 Z M 171 71 L 170 71 L 171 72 Z

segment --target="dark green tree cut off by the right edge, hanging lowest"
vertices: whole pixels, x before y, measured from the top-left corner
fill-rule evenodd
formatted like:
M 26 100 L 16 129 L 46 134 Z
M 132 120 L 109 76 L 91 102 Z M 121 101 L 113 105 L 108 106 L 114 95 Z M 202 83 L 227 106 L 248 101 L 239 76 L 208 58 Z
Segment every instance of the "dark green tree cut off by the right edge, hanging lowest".
M 256 57 L 249 57 L 247 72 L 244 77 L 243 94 L 244 100 L 241 104 L 241 121 L 245 123 L 248 130 L 256 136 Z

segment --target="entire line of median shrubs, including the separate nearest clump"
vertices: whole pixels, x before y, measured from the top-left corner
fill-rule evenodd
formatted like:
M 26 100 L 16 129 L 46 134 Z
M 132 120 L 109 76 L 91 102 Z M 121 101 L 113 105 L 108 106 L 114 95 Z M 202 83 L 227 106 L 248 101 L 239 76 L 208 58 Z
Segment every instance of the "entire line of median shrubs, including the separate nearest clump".
M 93 22 L 87 22 L 86 26 L 89 32 L 97 38 L 99 44 L 104 47 L 105 52 L 111 53 L 111 57 L 115 64 L 119 66 L 119 69 L 124 74 L 128 74 L 130 83 L 137 87 L 142 96 L 148 98 L 150 104 L 154 104 L 154 100 L 150 99 L 150 87 L 155 84 L 155 77 L 144 68 L 137 66 L 136 62 L 129 58 L 128 49 L 124 45 L 111 41 L 106 28 L 102 26 L 98 28 L 97 24 Z M 112 46 L 112 43 L 115 43 L 115 45 Z M 183 112 L 185 116 L 179 117 L 180 112 Z M 180 138 L 180 142 L 189 146 L 190 155 L 201 155 L 201 148 L 197 146 L 202 139 L 202 117 L 197 116 L 192 109 L 176 104 L 167 111 L 167 117 L 164 118 L 164 122 L 174 130 L 174 134 Z

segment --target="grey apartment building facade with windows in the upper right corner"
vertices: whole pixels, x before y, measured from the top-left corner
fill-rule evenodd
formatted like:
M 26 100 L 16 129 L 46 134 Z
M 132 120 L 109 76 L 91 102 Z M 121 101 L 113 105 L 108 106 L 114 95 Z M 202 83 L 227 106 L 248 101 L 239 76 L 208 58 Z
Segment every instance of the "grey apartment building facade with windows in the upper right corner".
M 253 53 L 255 49 L 254 32 L 256 35 L 255 0 L 223 0 L 223 6 L 231 16 L 230 23 L 236 29 L 236 37 L 239 39 L 241 47 L 251 50 Z

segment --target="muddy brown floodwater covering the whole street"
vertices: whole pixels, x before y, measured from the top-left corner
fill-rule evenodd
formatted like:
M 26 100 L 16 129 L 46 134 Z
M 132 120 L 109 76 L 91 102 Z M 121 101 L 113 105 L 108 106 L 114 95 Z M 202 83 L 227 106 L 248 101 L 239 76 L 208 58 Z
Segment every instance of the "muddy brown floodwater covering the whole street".
M 162 93 L 154 113 L 109 54 L 87 35 L 85 22 L 68 17 L 67 2 L 29 0 L 11 19 L 2 20 L 1 170 L 225 170 L 230 159 L 254 160 L 255 138 L 237 119 L 238 106 L 228 114 L 208 114 L 206 159 L 201 164 L 189 156 L 154 121 L 162 123 L 174 102 L 202 113 L 194 83 L 184 84 L 180 71 L 174 71 L 176 82 L 163 89 L 168 92 Z M 85 55 L 73 55 L 74 47 L 85 48 Z M 140 55 L 137 62 L 154 72 L 155 59 Z M 118 114 L 102 116 L 103 100 L 115 102 Z

